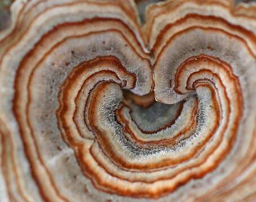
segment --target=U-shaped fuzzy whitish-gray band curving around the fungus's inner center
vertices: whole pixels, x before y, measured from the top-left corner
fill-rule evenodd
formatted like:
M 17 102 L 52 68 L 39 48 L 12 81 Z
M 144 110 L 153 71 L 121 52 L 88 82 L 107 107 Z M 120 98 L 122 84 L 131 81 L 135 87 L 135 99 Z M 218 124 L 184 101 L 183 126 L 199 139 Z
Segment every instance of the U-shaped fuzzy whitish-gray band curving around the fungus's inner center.
M 205 130 L 207 130 L 207 119 L 208 116 L 208 107 L 209 105 L 209 96 L 206 94 L 201 95 L 201 99 L 199 101 L 198 114 L 197 114 L 197 126 L 193 134 L 185 137 L 180 140 L 174 146 L 156 146 L 153 148 L 144 148 L 139 144 L 134 143 L 127 139 L 124 134 L 123 127 L 116 121 L 115 111 L 120 105 L 122 101 L 122 91 L 117 84 L 116 87 L 109 88 L 109 90 L 104 92 L 104 97 L 100 102 L 100 115 L 99 121 L 100 125 L 104 125 L 104 127 L 108 127 L 109 131 L 113 131 L 111 134 L 105 134 L 109 136 L 111 139 L 111 143 L 117 150 L 122 151 L 122 153 L 126 154 L 130 160 L 135 160 L 138 158 L 147 158 L 152 157 L 152 155 L 159 155 L 163 153 L 172 153 L 175 151 L 179 151 L 185 146 L 190 146 L 193 141 L 196 141 L 197 137 L 202 134 Z M 198 143 L 200 144 L 200 143 Z

